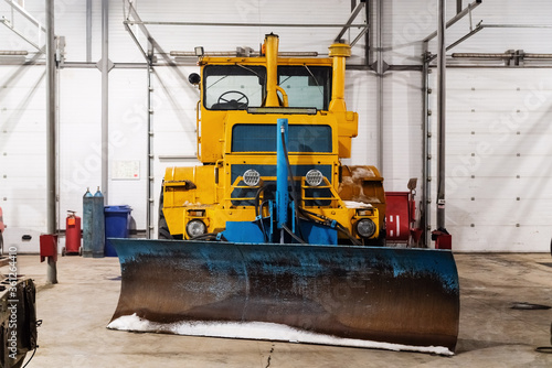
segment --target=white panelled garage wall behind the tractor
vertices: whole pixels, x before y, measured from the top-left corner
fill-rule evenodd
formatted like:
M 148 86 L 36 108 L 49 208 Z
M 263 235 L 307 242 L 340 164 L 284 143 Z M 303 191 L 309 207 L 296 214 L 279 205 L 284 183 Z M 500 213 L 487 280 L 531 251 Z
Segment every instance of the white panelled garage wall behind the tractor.
M 468 2 L 465 0 L 464 6 Z M 59 0 L 55 3 L 55 29 L 57 35 L 65 36 L 66 61 L 84 62 L 87 56 L 86 1 Z M 316 7 L 311 1 L 266 0 L 234 2 L 211 0 L 201 4 L 176 0 L 162 3 L 138 0 L 134 3 L 146 21 L 213 22 L 215 20 L 219 23 L 342 24 L 349 19 L 352 8 L 351 1 L 344 0 L 317 1 Z M 455 14 L 456 3 L 447 1 L 447 18 Z M 100 1 L 92 1 L 93 63 L 100 58 Z M 43 1 L 28 0 L 24 6 L 29 13 L 44 23 Z M 384 62 L 390 66 L 407 65 L 414 68 L 410 71 L 391 68 L 385 72 L 381 110 L 378 106 L 379 77 L 375 73 L 368 69 L 348 72 L 348 106 L 359 112 L 360 126 L 359 137 L 353 141 L 353 155 L 344 160 L 344 163 L 378 162 L 379 119 L 382 119 L 382 172 L 385 176 L 385 188 L 404 191 L 410 177 L 422 178 L 425 123 L 423 76 L 415 67 L 422 65 L 424 51 L 422 40 L 436 30 L 437 1 L 394 0 L 382 1 L 381 6 Z M 375 45 L 378 0 L 369 1 L 368 7 L 371 13 L 371 41 Z M 109 1 L 109 58 L 114 63 L 144 63 L 141 53 L 123 25 L 124 12 L 127 11 L 123 1 Z M 548 24 L 548 15 L 551 13 L 552 4 L 543 0 L 523 2 L 484 0 L 473 12 L 471 26 L 481 20 L 484 24 Z M 11 20 L 10 7 L 6 2 L 0 2 L 0 15 Z M 31 25 L 17 12 L 13 17 L 13 25 L 23 30 L 28 39 L 36 43 L 44 42 L 44 35 L 36 26 Z M 364 20 L 365 14 L 362 11 L 355 22 Z M 146 40 L 139 32 L 138 25 L 131 25 L 131 29 L 145 45 Z M 236 46 L 251 46 L 257 50 L 264 34 L 275 32 L 280 36 L 283 51 L 317 51 L 321 54 L 327 53 L 327 46 L 339 32 L 337 28 L 205 25 L 148 25 L 148 30 L 164 52 L 192 51 L 198 45 L 204 46 L 205 51 L 231 51 Z M 448 30 L 447 43 L 458 40 L 469 30 L 469 19 L 466 18 Z M 353 40 L 358 31 L 353 29 L 347 32 L 344 39 Z M 485 29 L 453 51 L 501 53 L 506 50 L 524 50 L 550 53 L 552 45 L 546 40 L 552 35 L 551 32 L 551 29 L 531 28 Z M 364 39 L 361 39 L 353 47 L 350 64 L 364 63 Z M 429 51 L 436 52 L 436 40 L 433 40 L 429 43 Z M 0 50 L 34 51 L 28 42 L 2 25 L 0 25 Z M 372 48 L 368 62 L 373 63 L 376 56 L 376 50 Z M 158 58 L 162 59 L 162 55 L 158 55 Z M 39 57 L 39 62 L 41 61 L 43 57 Z M 4 220 L 9 226 L 6 239 L 7 242 L 20 245 L 21 236 L 31 234 L 33 240 L 23 245 L 22 251 L 36 251 L 38 235 L 45 230 L 44 66 L 2 65 L 1 62 L 2 59 L 0 59 L 0 82 L 3 87 L 0 90 L 0 206 L 4 209 Z M 157 197 L 164 169 L 195 163 L 191 156 L 197 151 L 198 91 L 185 78 L 197 69 L 195 66 L 157 66 L 152 72 L 151 121 L 155 132 L 156 223 Z M 434 83 L 433 78 L 434 75 L 431 83 Z M 456 191 L 449 191 L 447 224 L 454 234 L 457 249 L 529 251 L 545 250 L 548 247 L 545 240 L 552 232 L 551 216 L 546 209 L 550 198 L 545 194 L 550 182 L 543 174 L 549 159 L 546 154 L 550 153 L 545 144 L 546 134 L 550 132 L 545 123 L 550 117 L 548 95 L 546 100 L 538 108 L 528 110 L 528 118 L 519 127 L 520 134 L 517 130 L 516 134 L 506 141 L 508 144 L 499 144 L 501 143 L 499 140 L 506 137 L 501 130 L 495 132 L 488 129 L 481 130 L 481 127 L 489 121 L 503 120 L 501 117 L 508 116 L 513 106 L 524 111 L 526 99 L 530 99 L 529 104 L 531 99 L 540 101 L 540 96 L 544 96 L 545 93 L 538 95 L 542 89 L 539 89 L 541 86 L 539 83 L 544 83 L 543 90 L 548 90 L 549 78 L 548 69 L 497 68 L 491 72 L 474 67 L 449 69 L 447 174 L 450 183 L 459 182 L 463 185 L 458 185 Z M 60 71 L 59 80 L 59 220 L 61 228 L 64 228 L 65 212 L 72 209 L 82 214 L 82 195 L 86 187 L 89 186 L 95 191 L 100 184 L 100 72 L 96 68 L 63 68 Z M 147 86 L 148 71 L 138 65 L 132 68 L 114 68 L 109 73 L 109 204 L 130 205 L 136 221 L 134 226 L 140 230 L 147 227 L 148 206 Z M 436 91 L 436 86 L 432 86 Z M 537 86 L 534 87 L 537 89 L 531 89 L 531 86 Z M 477 112 L 471 112 L 471 109 Z M 434 117 L 432 122 L 435 122 Z M 471 156 L 471 153 L 478 154 L 477 151 L 473 151 L 481 142 L 490 142 L 496 147 L 495 155 L 481 156 L 476 174 L 470 172 L 464 178 L 461 175 L 466 173 L 455 167 L 458 164 L 461 167 L 466 160 L 477 158 L 477 155 Z M 513 153 L 520 155 L 510 156 Z M 468 161 L 468 164 L 470 162 Z M 130 176 L 126 176 L 128 173 L 125 170 L 131 170 Z M 508 176 L 510 171 L 516 175 L 514 178 Z M 539 172 L 541 174 L 538 174 Z M 471 175 L 475 175 L 475 178 L 471 178 Z M 418 186 L 423 184 L 422 181 L 418 182 Z M 503 190 L 495 191 L 493 187 Z M 507 217 L 505 213 L 516 215 Z

